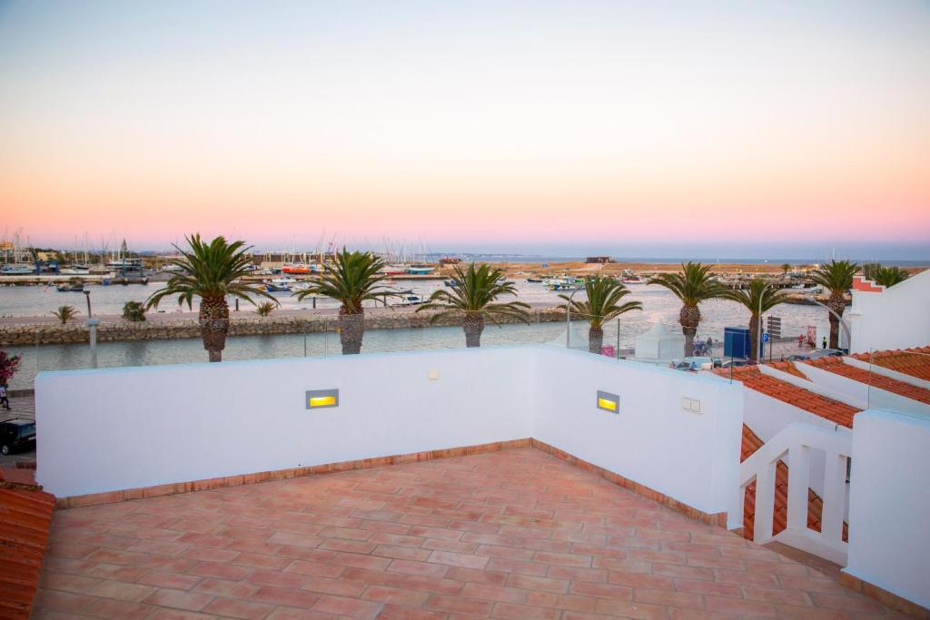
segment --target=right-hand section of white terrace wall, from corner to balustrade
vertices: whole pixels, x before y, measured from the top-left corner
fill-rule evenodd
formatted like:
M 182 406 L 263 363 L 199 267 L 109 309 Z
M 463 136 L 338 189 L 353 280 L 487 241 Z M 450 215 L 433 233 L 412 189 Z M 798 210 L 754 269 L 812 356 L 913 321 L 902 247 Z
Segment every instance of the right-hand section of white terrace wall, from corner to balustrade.
M 619 413 L 594 406 L 617 394 Z M 538 358 L 533 436 L 705 512 L 737 487 L 742 385 L 574 351 Z M 684 411 L 683 398 L 701 404 Z M 741 514 L 733 527 L 738 527 Z

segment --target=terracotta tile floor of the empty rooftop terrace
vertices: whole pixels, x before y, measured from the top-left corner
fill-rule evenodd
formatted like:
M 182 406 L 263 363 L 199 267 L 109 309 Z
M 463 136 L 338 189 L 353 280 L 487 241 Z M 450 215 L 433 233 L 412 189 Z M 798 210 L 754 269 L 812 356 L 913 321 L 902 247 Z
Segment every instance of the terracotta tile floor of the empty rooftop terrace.
M 523 449 L 55 514 L 35 617 L 887 617 Z

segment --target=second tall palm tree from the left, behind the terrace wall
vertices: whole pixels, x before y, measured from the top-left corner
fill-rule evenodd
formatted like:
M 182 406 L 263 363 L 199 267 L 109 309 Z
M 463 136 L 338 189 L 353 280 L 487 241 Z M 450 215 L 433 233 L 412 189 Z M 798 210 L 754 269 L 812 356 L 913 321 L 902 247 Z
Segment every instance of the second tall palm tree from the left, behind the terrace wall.
M 298 299 L 311 295 L 332 297 L 339 306 L 339 341 L 342 354 L 362 352 L 365 337 L 365 301 L 378 301 L 396 295 L 378 284 L 387 276 L 380 273 L 384 261 L 371 252 L 350 252 L 345 247 L 337 252 L 335 261 L 323 276 L 309 288 L 297 294 Z

